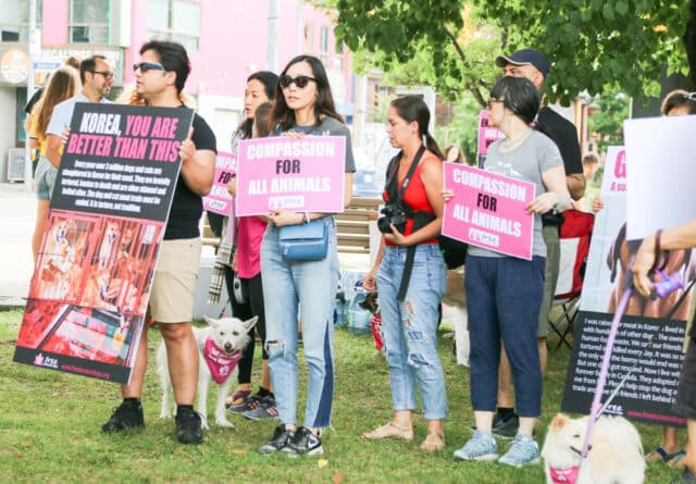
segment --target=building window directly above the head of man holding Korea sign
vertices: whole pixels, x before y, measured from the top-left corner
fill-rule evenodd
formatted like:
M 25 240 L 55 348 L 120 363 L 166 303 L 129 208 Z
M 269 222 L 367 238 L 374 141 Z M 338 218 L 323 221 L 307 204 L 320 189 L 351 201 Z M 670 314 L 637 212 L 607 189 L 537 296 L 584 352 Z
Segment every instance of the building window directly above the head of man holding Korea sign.
M 198 52 L 200 4 L 188 0 L 149 0 L 148 36 L 176 40 L 189 52 Z

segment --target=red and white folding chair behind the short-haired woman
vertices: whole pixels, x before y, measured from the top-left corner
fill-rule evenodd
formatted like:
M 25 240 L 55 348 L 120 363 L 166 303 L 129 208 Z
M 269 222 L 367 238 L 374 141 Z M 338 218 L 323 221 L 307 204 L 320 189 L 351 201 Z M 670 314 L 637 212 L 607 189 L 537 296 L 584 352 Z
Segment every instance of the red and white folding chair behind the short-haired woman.
M 558 271 L 558 282 L 554 293 L 554 306 L 561 307 L 561 314 L 550 320 L 549 336 L 556 333 L 560 340 L 556 349 L 566 344 L 571 345 L 567 337 L 573 334 L 573 323 L 580 307 L 580 294 L 583 288 L 585 263 L 589 252 L 589 239 L 595 225 L 595 215 L 577 210 L 563 213 L 566 221 L 561 225 L 560 245 L 561 258 Z M 563 327 L 563 323 L 566 326 Z

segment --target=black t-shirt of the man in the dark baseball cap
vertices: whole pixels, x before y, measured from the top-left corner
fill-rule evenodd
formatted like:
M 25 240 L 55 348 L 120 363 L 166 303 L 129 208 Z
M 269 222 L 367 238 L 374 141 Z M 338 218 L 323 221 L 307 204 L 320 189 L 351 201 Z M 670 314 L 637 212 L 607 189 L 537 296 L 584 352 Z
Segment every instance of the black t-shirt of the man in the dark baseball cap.
M 558 114 L 548 106 L 539 110 L 536 117 L 536 129 L 544 133 L 558 147 L 563 159 L 563 167 L 566 175 L 572 175 L 583 172 L 583 159 L 580 154 L 580 144 L 577 142 L 577 131 L 573 123 Z M 560 225 L 562 216 L 555 215 L 551 212 L 542 215 L 542 222 L 545 226 Z

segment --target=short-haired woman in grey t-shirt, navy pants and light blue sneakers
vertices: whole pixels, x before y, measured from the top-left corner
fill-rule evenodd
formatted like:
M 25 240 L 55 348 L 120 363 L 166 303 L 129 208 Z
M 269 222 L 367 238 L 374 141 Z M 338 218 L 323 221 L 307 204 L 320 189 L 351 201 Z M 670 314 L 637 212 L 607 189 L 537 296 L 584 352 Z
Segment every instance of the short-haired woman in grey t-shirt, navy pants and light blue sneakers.
M 488 148 L 485 170 L 531 182 L 535 198 L 526 210 L 534 213 L 532 260 L 504 256 L 469 246 L 467 255 L 467 310 L 471 352 L 473 437 L 455 451 L 458 460 L 498 460 L 520 467 L 538 462 L 539 449 L 532 435 L 542 412 L 542 372 L 536 332 L 542 296 L 546 246 L 540 214 L 571 208 L 566 171 L 558 147 L 531 127 L 539 107 L 536 88 L 525 77 L 502 77 L 490 90 L 490 125 L 506 138 Z M 451 191 L 443 191 L 448 201 Z M 514 382 L 520 430 L 508 451 L 498 459 L 492 433 L 498 393 L 500 344 L 505 346 Z

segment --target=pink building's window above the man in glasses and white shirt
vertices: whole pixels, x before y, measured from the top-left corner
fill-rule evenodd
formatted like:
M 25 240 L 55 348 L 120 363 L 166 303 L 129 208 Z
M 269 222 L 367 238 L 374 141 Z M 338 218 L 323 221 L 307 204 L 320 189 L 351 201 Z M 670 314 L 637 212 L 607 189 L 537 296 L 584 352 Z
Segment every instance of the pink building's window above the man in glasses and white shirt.
M 71 44 L 108 46 L 110 0 L 71 0 L 67 38 Z

